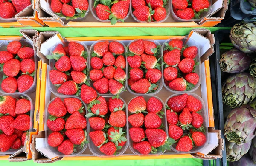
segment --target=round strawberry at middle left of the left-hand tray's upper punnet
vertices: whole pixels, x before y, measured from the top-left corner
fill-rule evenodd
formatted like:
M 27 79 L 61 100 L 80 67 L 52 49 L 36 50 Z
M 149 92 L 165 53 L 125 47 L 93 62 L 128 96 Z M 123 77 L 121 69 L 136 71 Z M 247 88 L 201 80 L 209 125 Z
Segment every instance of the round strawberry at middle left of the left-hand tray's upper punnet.
M 20 61 L 11 59 L 3 64 L 3 73 L 9 77 L 15 77 L 20 72 Z

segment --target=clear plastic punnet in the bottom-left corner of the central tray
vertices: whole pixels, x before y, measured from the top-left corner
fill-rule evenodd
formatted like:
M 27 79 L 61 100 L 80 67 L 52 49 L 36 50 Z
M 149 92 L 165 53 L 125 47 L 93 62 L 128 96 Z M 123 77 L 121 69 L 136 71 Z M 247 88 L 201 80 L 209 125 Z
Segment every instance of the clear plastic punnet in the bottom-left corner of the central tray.
M 57 98 L 57 97 L 55 97 L 55 98 Z M 79 149 L 78 147 L 76 147 L 76 150 L 77 150 L 77 152 L 75 153 L 72 153 L 72 154 L 70 154 L 70 155 L 64 155 L 64 154 L 62 154 L 61 152 L 59 152 L 58 150 L 57 150 L 57 148 L 55 148 L 55 147 L 52 147 L 52 146 L 49 146 L 49 144 L 48 144 L 48 136 L 52 133 L 52 131 L 50 131 L 49 130 L 49 128 L 48 128 L 48 126 L 47 126 L 47 120 L 48 120 L 48 118 L 49 118 L 49 116 L 50 116 L 50 114 L 48 113 L 48 107 L 49 107 L 49 104 L 53 101 L 53 100 L 55 100 L 55 98 L 53 98 L 48 104 L 47 104 L 47 107 L 46 107 L 46 109 L 45 109 L 45 111 L 44 111 L 44 117 L 45 117 L 45 119 L 44 119 L 44 124 L 45 124 L 45 144 L 46 144 L 46 148 L 47 148 L 47 150 L 49 151 L 49 152 L 52 152 L 53 154 L 55 154 L 56 156 L 58 156 L 58 157 L 75 157 L 75 156 L 78 156 L 78 155 L 81 155 L 84 151 L 85 151 L 85 149 L 87 148 L 87 144 L 85 144 L 84 145 L 84 147 L 82 148 L 82 149 Z M 64 98 L 77 98 L 77 99 L 79 99 L 80 101 L 81 101 L 81 103 L 82 103 L 82 105 L 84 106 L 84 109 L 85 109 L 85 111 L 86 111 L 86 114 L 88 113 L 87 112 L 87 106 L 84 104 L 84 101 L 82 101 L 81 100 L 81 98 L 79 98 L 79 97 L 76 97 L 76 96 L 59 96 L 59 98 L 61 98 L 61 100 L 62 101 L 64 101 Z M 86 118 L 86 122 L 87 122 L 87 124 L 89 123 L 88 122 L 88 118 Z M 86 129 L 86 132 L 87 132 L 87 134 L 88 134 L 88 127 L 87 127 L 87 129 Z M 86 140 L 88 141 L 88 138 L 89 138 L 89 136 L 87 135 L 87 138 L 86 138 Z

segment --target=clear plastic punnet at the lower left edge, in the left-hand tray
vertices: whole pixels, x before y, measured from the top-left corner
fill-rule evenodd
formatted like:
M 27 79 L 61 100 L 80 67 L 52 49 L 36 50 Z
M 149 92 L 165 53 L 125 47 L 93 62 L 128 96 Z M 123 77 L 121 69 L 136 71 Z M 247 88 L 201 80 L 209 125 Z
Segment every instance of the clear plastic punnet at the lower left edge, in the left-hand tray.
M 11 96 L 12 98 L 20 98 L 20 96 L 24 96 L 25 98 L 29 99 L 30 101 L 30 127 L 29 127 L 29 132 L 33 131 L 33 124 L 34 124 L 34 110 L 35 110 L 35 103 L 33 103 L 32 99 L 27 95 L 23 93 L 4 93 L 1 96 Z M 23 146 L 20 146 L 19 149 L 23 148 Z M 0 155 L 10 155 L 14 154 L 17 152 L 19 149 L 9 149 L 6 152 L 0 152 Z

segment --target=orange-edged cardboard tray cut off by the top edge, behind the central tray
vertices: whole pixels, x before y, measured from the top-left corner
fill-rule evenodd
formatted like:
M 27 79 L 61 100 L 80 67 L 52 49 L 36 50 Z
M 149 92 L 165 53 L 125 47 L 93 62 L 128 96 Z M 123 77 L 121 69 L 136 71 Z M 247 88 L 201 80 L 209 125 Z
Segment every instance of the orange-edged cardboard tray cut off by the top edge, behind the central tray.
M 37 0 L 36 10 L 38 17 L 49 27 L 213 27 L 224 19 L 228 8 L 228 0 L 213 0 L 212 11 L 200 22 L 175 22 L 171 14 L 163 23 L 137 23 L 131 15 L 125 20 L 125 23 L 116 23 L 111 25 L 110 22 L 99 22 L 93 17 L 91 12 L 77 22 L 63 21 L 57 15 L 49 11 L 47 0 Z

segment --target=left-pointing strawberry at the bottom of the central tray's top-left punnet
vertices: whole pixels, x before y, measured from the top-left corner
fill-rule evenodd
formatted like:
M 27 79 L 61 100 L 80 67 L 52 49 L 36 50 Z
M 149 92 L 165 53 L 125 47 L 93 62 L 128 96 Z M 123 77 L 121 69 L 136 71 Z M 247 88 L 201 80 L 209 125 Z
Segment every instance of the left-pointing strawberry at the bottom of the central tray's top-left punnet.
M 64 95 L 75 95 L 78 91 L 78 87 L 76 82 L 74 81 L 66 81 L 59 88 L 58 93 L 62 93 Z

